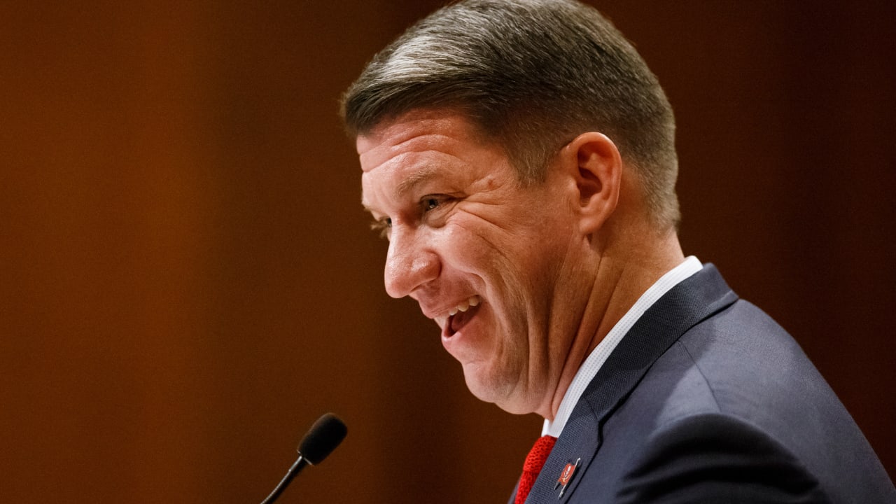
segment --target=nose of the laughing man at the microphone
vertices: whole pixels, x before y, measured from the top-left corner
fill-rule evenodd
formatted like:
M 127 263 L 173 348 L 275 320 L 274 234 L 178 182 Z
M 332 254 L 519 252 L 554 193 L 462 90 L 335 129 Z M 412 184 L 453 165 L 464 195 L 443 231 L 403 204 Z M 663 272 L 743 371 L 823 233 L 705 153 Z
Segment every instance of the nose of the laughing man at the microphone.
M 414 230 L 393 226 L 383 280 L 392 298 L 408 296 L 418 287 L 434 280 L 440 271 L 439 257 Z

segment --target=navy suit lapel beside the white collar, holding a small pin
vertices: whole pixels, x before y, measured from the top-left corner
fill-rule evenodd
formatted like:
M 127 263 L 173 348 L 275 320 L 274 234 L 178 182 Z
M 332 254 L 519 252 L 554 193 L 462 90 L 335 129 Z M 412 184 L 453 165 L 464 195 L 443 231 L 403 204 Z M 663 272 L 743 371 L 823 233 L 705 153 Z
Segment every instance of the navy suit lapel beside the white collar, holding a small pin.
M 666 352 L 685 331 L 737 300 L 714 265 L 670 289 L 632 326 L 604 362 L 575 405 L 563 433 L 557 439 L 541 474 L 532 487 L 527 503 L 565 502 L 575 491 L 581 474 L 597 455 L 601 443 L 600 426 L 622 404 L 647 373 L 653 362 Z M 562 498 L 557 480 L 567 464 L 575 464 L 572 479 Z

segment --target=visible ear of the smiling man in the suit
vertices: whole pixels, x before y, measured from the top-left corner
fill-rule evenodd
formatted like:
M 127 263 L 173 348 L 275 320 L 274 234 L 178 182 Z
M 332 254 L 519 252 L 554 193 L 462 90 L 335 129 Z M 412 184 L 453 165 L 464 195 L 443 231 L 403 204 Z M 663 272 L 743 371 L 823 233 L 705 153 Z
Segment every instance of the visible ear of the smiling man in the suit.
M 575 180 L 582 234 L 599 230 L 616 210 L 622 184 L 622 157 L 607 135 L 583 133 L 563 148 L 566 174 Z

